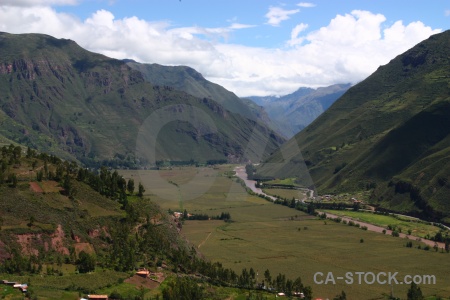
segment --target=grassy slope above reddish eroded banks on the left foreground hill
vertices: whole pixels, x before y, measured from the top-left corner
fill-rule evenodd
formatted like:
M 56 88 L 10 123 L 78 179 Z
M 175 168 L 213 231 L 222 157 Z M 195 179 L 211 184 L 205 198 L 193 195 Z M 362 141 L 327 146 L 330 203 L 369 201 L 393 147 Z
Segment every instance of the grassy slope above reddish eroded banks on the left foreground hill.
M 40 184 L 55 186 L 54 182 L 43 181 Z M 79 231 L 79 228 L 95 227 L 93 224 L 101 218 L 124 214 L 116 201 L 104 198 L 83 183 L 74 181 L 74 185 L 78 191 L 76 201 L 59 192 L 35 193 L 28 182 L 19 182 L 16 188 L 0 186 L 2 228 L 32 232 L 54 230 L 57 224 L 61 224 L 66 232 Z M 31 217 L 35 226 L 29 227 L 27 223 Z

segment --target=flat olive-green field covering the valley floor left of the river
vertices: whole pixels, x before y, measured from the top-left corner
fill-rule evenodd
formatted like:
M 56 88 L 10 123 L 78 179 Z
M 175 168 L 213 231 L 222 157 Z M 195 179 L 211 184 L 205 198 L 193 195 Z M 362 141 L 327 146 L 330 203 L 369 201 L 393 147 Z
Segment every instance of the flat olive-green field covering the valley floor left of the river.
M 269 269 L 272 276 L 278 273 L 292 279 L 300 276 L 312 287 L 315 297 L 331 299 L 344 290 L 349 299 L 383 299 L 392 290 L 395 296 L 405 298 L 409 285 L 358 284 L 356 275 L 353 284 L 343 280 L 336 280 L 336 284 L 316 284 L 314 274 L 332 272 L 338 277 L 345 276 L 346 272 L 398 272 L 399 279 L 404 275 L 434 275 L 436 284 L 420 285 L 424 295 L 450 297 L 450 254 L 418 249 L 423 244 L 417 241 L 412 241 L 412 248 L 407 248 L 406 239 L 319 220 L 248 195 L 234 178 L 229 178 L 226 171 L 230 169 L 232 166 L 177 167 L 122 174 L 136 181 L 140 178 L 150 198 L 166 209 L 208 215 L 230 213 L 232 222 L 227 223 L 185 221 L 182 234 L 207 259 L 219 261 L 237 272 L 252 267 L 258 271 L 260 281 Z M 156 176 L 167 184 L 152 183 L 151 178 Z M 196 187 L 201 190 L 196 191 Z

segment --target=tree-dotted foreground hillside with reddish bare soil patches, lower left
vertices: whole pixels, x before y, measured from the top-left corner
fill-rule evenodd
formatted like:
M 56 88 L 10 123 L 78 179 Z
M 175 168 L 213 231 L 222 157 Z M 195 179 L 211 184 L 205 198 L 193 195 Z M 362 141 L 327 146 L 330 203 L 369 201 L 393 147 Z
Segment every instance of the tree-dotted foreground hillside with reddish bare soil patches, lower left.
M 237 272 L 204 259 L 180 234 L 187 212 L 169 214 L 132 178 L 13 144 L 1 147 L 0 166 L 0 274 L 26 283 L 23 294 L 2 288 L 18 295 L 11 299 L 270 295 L 252 268 Z M 229 213 L 221 216 L 230 221 Z M 289 293 L 311 295 L 300 278 L 279 276 L 291 283 Z

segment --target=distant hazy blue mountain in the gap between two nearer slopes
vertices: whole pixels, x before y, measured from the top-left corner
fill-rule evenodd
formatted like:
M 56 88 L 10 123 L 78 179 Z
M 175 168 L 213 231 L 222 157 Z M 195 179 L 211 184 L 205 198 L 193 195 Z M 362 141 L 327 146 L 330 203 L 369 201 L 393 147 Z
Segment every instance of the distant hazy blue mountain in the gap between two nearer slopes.
M 328 109 L 350 86 L 335 84 L 317 89 L 303 87 L 282 97 L 249 98 L 264 108 L 279 132 L 291 138 Z

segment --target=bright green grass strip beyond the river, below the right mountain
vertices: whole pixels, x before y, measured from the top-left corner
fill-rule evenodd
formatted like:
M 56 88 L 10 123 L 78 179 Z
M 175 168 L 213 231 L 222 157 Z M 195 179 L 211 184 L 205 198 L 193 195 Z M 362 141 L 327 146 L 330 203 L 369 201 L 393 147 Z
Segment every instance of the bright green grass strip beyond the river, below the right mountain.
M 393 217 L 386 215 L 379 215 L 364 211 L 350 211 L 350 210 L 324 210 L 338 216 L 347 216 L 358 221 L 370 223 L 387 228 L 388 225 L 400 227 L 403 233 L 411 230 L 411 234 L 418 237 L 434 236 L 440 231 L 436 226 L 430 225 L 426 222 L 417 222 L 415 219 L 407 217 Z

